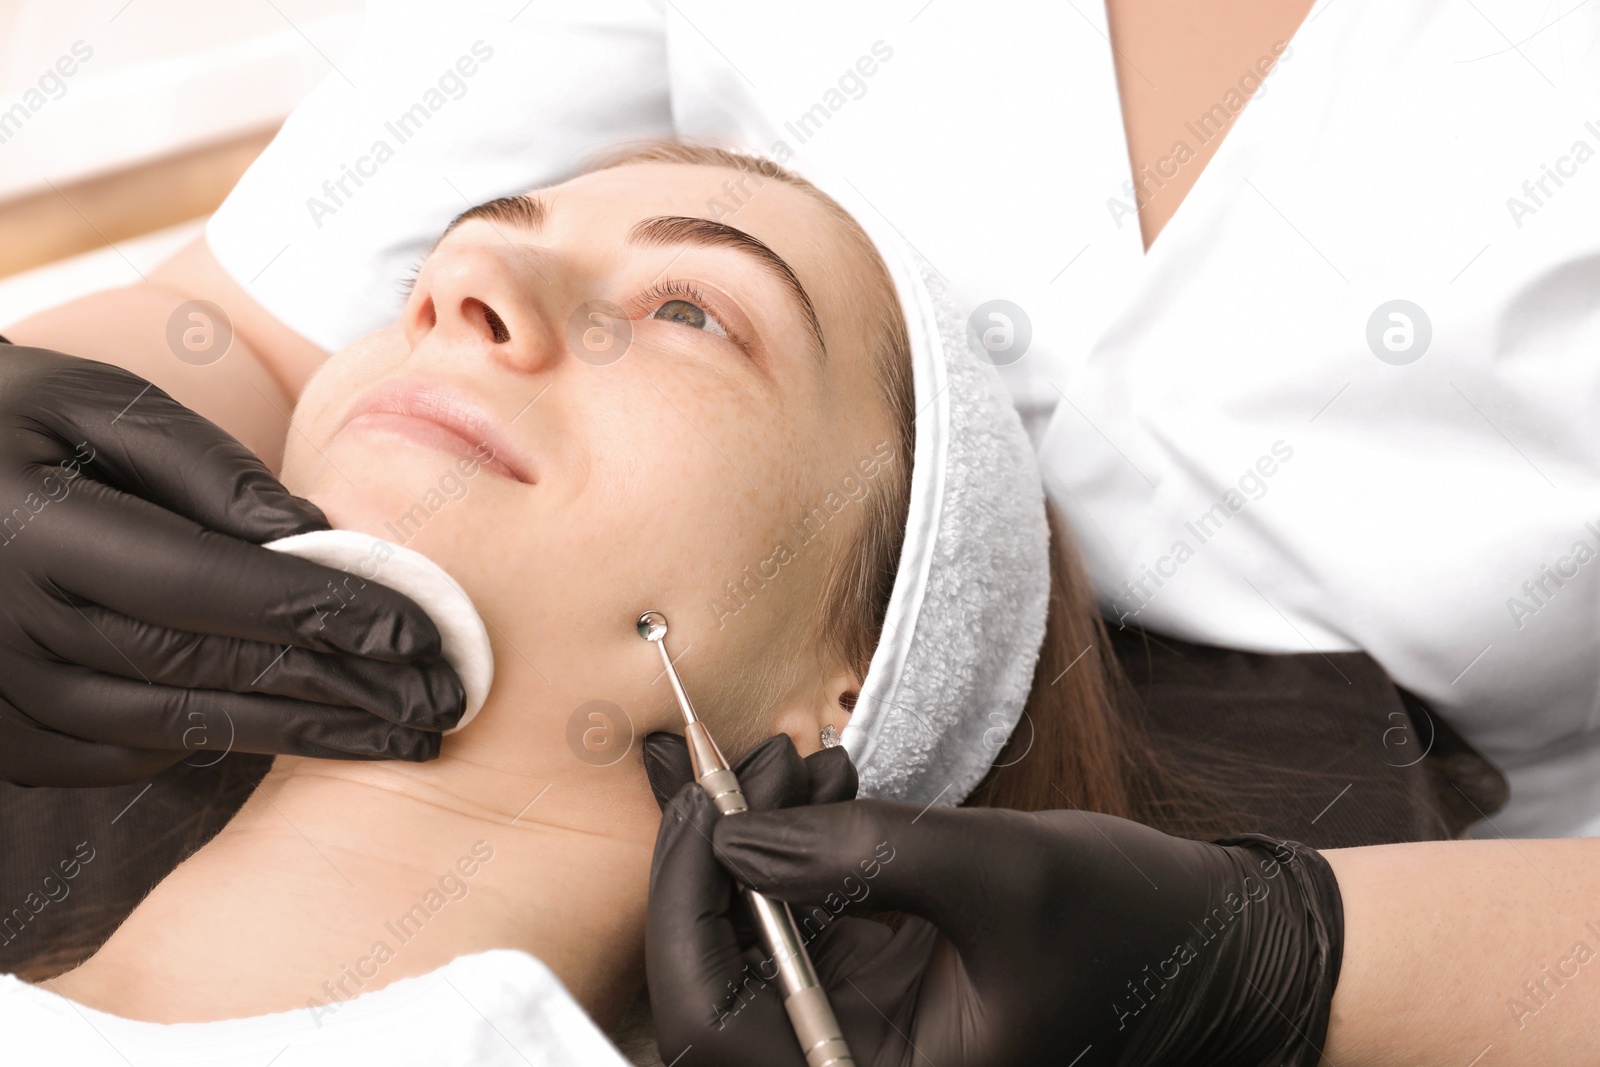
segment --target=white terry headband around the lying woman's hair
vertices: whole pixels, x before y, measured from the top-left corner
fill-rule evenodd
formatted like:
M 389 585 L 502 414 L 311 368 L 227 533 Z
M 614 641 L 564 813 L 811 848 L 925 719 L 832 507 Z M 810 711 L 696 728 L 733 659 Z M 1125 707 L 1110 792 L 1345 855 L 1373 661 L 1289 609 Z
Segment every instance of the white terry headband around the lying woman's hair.
M 968 347 L 939 274 L 848 182 L 806 178 L 883 258 L 917 394 L 906 542 L 842 741 L 862 797 L 955 805 L 1000 755 L 1034 681 L 1050 603 L 1043 480 L 998 371 Z

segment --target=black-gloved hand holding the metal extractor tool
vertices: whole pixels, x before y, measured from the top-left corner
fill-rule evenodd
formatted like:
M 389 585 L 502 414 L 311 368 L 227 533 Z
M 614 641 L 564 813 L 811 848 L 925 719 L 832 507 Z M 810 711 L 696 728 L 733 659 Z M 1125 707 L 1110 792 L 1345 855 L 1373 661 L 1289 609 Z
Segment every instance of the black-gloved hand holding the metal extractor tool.
M 795 781 L 758 779 L 794 773 L 765 763 L 741 782 L 795 797 Z M 734 875 L 816 931 L 861 1067 L 1314 1067 L 1344 945 L 1333 872 L 1294 843 L 878 800 L 720 817 L 685 787 L 656 845 L 646 953 L 678 1067 L 805 1064 L 733 921 Z

